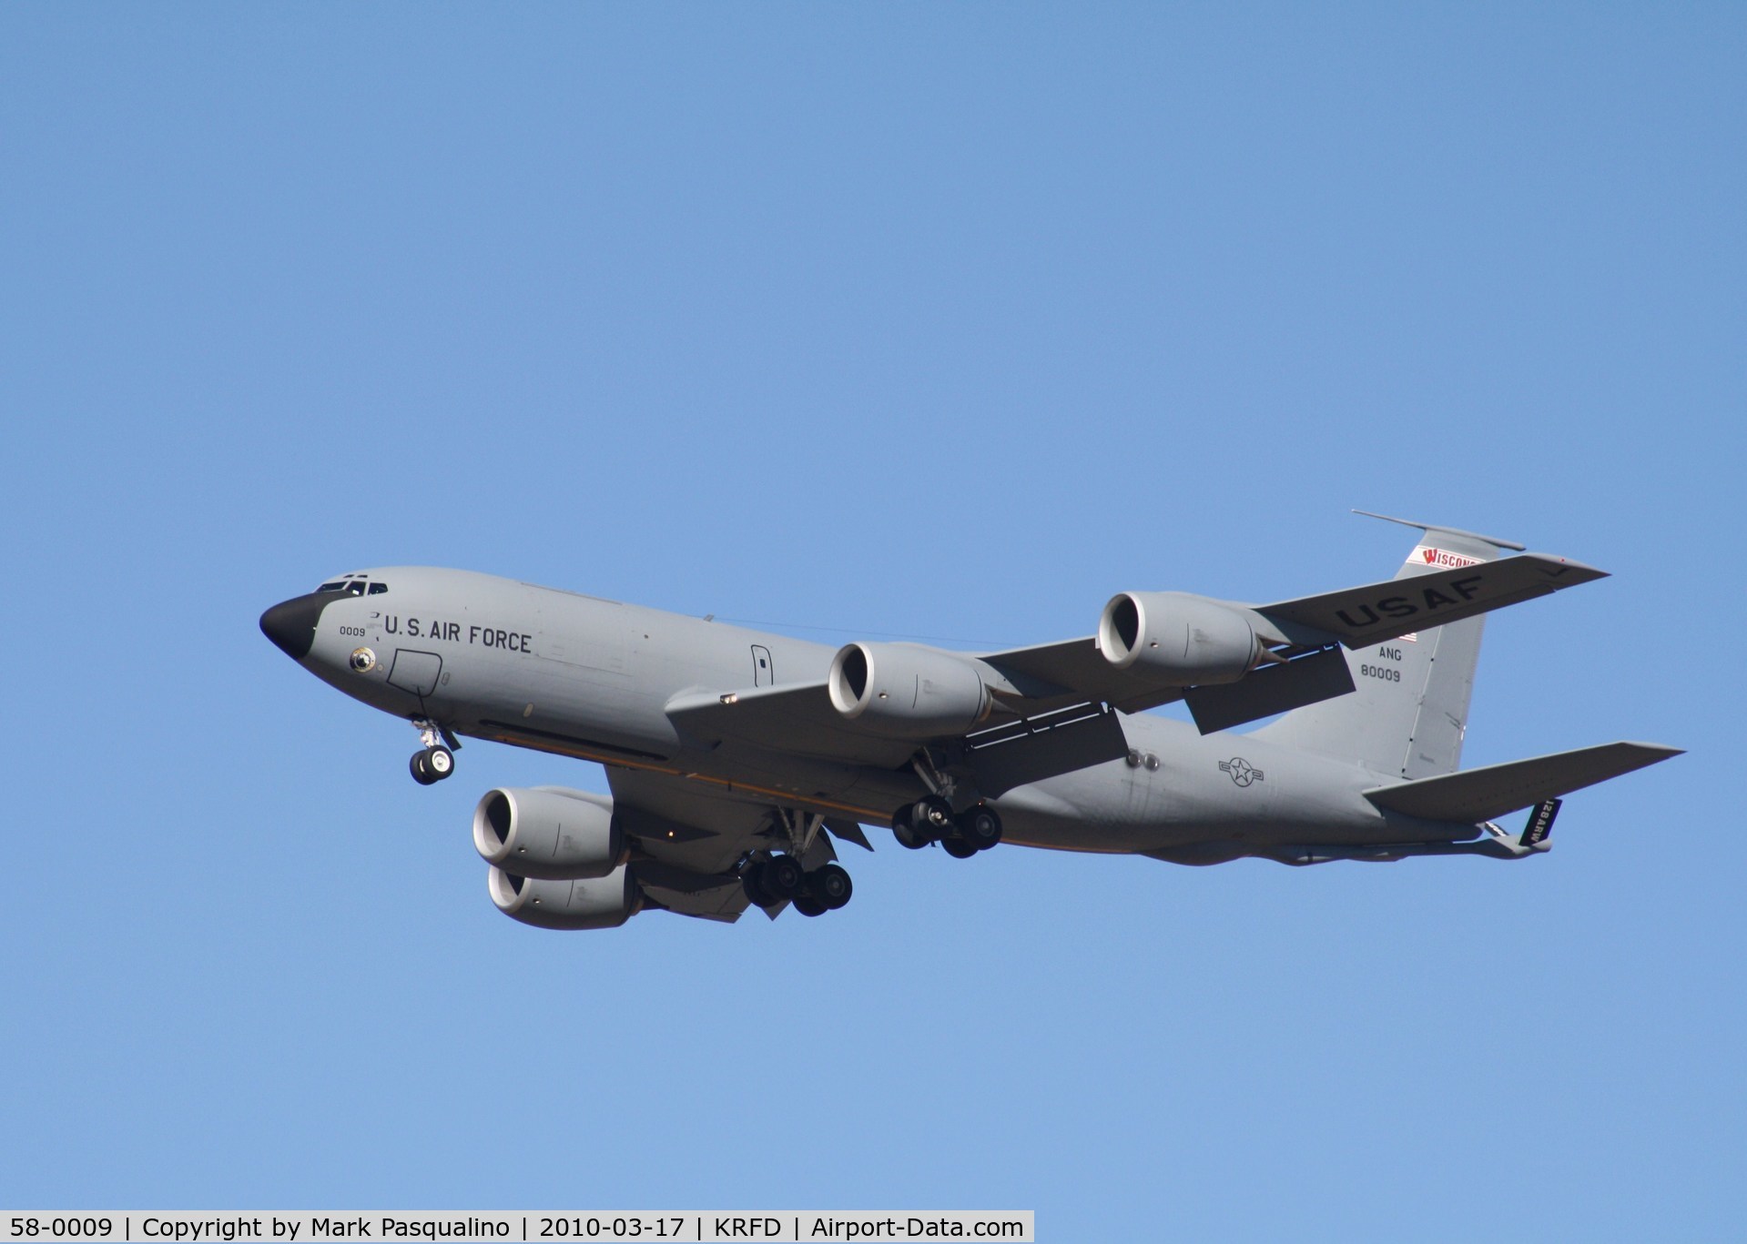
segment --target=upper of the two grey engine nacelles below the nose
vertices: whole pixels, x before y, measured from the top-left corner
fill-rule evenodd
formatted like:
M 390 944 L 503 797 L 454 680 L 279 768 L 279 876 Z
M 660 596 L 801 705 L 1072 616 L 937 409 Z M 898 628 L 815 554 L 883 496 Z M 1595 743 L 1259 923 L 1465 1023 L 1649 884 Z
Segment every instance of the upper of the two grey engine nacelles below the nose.
M 473 846 L 519 877 L 604 877 L 625 861 L 613 800 L 580 790 L 487 790 L 473 809 Z

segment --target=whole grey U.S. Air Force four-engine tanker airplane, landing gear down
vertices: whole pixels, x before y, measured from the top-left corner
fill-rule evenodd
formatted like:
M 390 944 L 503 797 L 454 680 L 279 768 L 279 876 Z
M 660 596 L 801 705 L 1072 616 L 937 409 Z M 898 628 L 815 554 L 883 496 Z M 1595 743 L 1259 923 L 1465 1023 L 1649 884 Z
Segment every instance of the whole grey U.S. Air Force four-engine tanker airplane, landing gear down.
M 1391 580 L 1274 605 L 1118 592 L 1094 634 L 1003 652 L 832 648 L 418 566 L 323 580 L 260 629 L 409 720 L 421 784 L 454 774 L 463 736 L 606 767 L 611 797 L 496 788 L 473 809 L 491 902 L 552 930 L 837 910 L 835 844 L 872 851 L 863 825 L 959 860 L 1525 860 L 1565 795 L 1681 755 L 1607 743 L 1459 769 L 1485 615 L 1605 571 L 1368 517 L 1420 531 Z M 1146 711 L 1172 702 L 1191 722 Z M 1523 809 L 1520 832 L 1497 823 Z

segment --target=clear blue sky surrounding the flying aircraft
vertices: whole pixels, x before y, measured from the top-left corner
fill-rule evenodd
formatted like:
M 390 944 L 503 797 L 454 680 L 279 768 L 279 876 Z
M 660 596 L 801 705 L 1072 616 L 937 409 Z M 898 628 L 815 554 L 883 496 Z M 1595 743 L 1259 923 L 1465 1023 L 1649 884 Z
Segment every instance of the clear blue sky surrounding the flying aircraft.
M 1738 5 L 0 10 L 0 1204 L 1032 1207 L 1043 1239 L 1716 1239 L 1747 1160 Z M 550 935 L 589 765 L 255 619 L 372 564 L 832 641 L 1392 571 L 1558 849 L 853 860 Z M 795 631 L 800 632 L 800 631 Z

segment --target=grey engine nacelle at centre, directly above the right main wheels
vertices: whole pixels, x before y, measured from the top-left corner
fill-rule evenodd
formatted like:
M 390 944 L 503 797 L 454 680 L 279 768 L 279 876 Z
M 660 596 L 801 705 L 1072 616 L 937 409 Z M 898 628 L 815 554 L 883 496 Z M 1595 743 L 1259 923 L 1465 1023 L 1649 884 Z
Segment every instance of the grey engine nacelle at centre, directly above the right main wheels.
M 893 739 L 963 734 L 992 708 L 977 666 L 910 643 L 846 645 L 826 687 L 839 713 Z

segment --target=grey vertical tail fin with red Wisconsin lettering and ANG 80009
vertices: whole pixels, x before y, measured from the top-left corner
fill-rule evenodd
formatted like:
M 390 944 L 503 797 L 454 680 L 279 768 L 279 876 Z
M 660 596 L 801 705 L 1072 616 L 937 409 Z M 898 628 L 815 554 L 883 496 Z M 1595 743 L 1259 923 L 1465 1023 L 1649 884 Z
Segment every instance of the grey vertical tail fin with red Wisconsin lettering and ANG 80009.
M 1382 514 L 1366 517 L 1387 519 Z M 1387 521 L 1426 533 L 1396 578 L 1471 566 L 1495 559 L 1504 549 L 1523 547 L 1455 528 Z M 1347 652 L 1357 690 L 1295 709 L 1265 725 L 1256 737 L 1338 760 L 1356 760 L 1391 778 L 1455 772 L 1462 762 L 1467 701 L 1474 688 L 1485 625 L 1485 617 L 1473 617 Z

